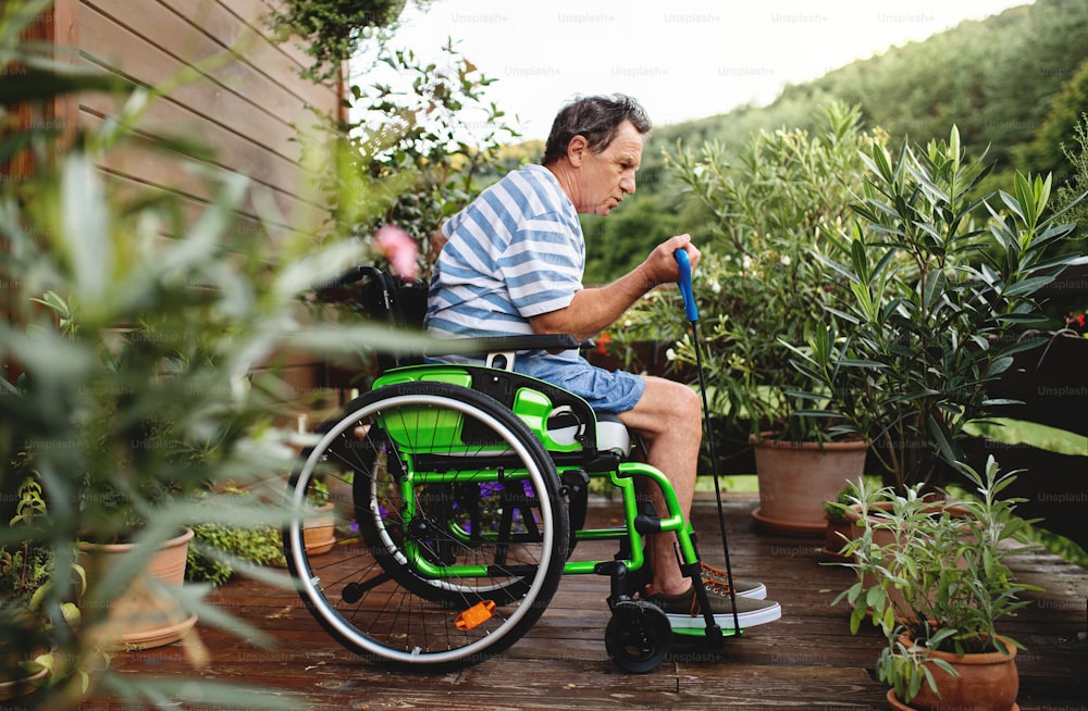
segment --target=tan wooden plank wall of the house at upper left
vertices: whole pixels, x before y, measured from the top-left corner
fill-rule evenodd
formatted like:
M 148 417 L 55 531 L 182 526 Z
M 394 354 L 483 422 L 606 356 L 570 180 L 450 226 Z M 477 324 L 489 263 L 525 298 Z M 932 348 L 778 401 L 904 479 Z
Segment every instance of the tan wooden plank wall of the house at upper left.
M 239 229 L 265 225 L 316 232 L 324 209 L 313 176 L 300 165 L 298 129 L 314 122 L 310 107 L 341 115 L 341 88 L 298 76 L 308 58 L 294 42 L 277 45 L 264 22 L 273 0 L 57 0 L 59 43 L 73 61 L 147 87 L 176 82 L 137 123 L 151 139 L 182 138 L 212 150 L 203 167 L 242 173 L 251 182 Z M 67 120 L 101 124 L 119 112 L 112 97 L 83 96 Z M 58 109 L 59 111 L 61 108 Z M 156 188 L 182 196 L 194 212 L 212 198 L 207 179 L 161 150 L 127 148 L 100 165 L 115 189 Z M 252 233 L 250 233 L 252 234 Z M 323 365 L 295 358 L 284 377 L 299 391 L 319 388 Z

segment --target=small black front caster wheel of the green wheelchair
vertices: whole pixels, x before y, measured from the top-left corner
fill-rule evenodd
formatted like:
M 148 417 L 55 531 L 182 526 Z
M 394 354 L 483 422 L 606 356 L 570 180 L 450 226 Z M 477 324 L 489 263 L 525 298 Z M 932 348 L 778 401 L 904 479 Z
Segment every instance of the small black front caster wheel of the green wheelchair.
M 672 646 L 672 626 L 662 609 L 644 600 L 626 600 L 613 608 L 605 628 L 605 649 L 627 672 L 657 669 Z

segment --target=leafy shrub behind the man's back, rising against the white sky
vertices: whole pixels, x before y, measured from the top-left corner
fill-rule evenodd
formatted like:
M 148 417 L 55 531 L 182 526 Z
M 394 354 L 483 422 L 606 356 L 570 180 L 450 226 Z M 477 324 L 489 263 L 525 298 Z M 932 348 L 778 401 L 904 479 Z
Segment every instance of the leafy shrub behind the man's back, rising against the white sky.
M 486 99 L 496 79 L 452 40 L 441 54 L 425 61 L 410 49 L 381 47 L 374 66 L 395 78 L 353 83 L 345 99 L 350 117 L 321 117 L 327 140 L 307 146 L 337 160 L 321 183 L 335 234 L 369 238 L 395 224 L 426 255 L 434 232 L 479 194 L 483 166 L 519 136 Z

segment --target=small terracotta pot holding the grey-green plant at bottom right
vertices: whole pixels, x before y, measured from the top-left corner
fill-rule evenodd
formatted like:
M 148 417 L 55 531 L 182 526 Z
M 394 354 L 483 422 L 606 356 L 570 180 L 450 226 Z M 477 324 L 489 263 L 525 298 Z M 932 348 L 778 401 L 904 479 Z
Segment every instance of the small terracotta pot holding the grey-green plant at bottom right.
M 903 640 L 904 644 L 905 640 Z M 888 691 L 888 702 L 893 709 L 964 709 L 969 711 L 1016 711 L 1016 695 L 1019 693 L 1019 672 L 1016 669 L 1016 648 L 1007 654 L 1000 651 L 959 657 L 952 652 L 930 651 L 930 656 L 951 664 L 959 676 L 952 676 L 937 665 L 930 664 L 940 698 L 928 684 L 911 699 L 907 706 L 895 698 L 895 690 Z

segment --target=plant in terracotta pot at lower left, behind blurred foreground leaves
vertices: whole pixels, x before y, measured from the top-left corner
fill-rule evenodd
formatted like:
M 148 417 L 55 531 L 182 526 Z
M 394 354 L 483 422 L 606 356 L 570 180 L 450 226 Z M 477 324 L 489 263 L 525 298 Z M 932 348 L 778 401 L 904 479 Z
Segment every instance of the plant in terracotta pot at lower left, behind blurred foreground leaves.
M 143 649 L 177 641 L 197 616 L 183 611 L 175 597 L 161 594 L 158 586 L 182 585 L 193 531 L 178 524 L 172 532 L 156 534 L 146 556 L 136 539 L 147 531 L 152 512 L 166 509 L 175 497 L 200 490 L 208 481 L 185 474 L 190 465 L 199 467 L 197 458 L 206 454 L 180 432 L 182 409 L 193 407 L 194 399 L 173 391 L 169 401 L 160 400 L 165 395 L 159 392 L 160 379 L 174 383 L 159 370 L 183 373 L 184 351 L 173 337 L 157 333 L 151 319 L 112 328 L 110 323 L 125 320 L 110 314 L 108 322 L 88 329 L 85 312 L 55 291 L 32 300 L 54 314 L 59 337 L 84 344 L 97 361 L 81 386 L 86 397 L 77 407 L 83 412 L 71 423 L 70 445 L 82 454 L 82 462 L 73 462 L 70 473 L 78 483 L 76 496 L 84 514 L 76 533 L 91 604 L 99 603 L 100 590 L 112 587 L 114 578 L 127 578 L 124 588 L 111 590 L 108 603 L 101 606 L 109 609 L 98 629 L 101 644 Z M 153 409 L 150 402 L 139 403 L 141 398 L 153 401 Z M 211 404 L 206 395 L 200 398 Z M 148 470 L 153 473 L 148 475 Z M 138 573 L 127 570 L 132 558 L 144 559 Z

